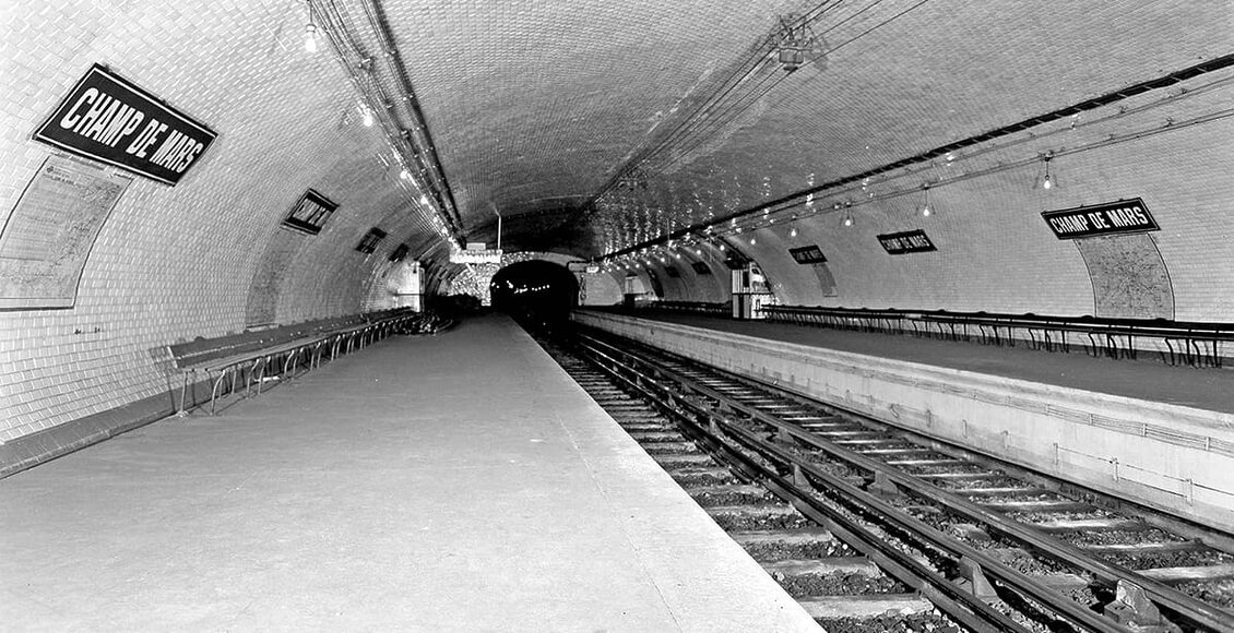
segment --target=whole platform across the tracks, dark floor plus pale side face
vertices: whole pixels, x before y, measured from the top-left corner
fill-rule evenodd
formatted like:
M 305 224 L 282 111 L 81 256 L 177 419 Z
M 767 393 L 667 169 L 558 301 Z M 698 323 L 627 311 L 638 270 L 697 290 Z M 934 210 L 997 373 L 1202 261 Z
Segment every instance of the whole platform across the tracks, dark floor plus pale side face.
M 692 316 L 574 320 L 1209 527 L 1234 524 L 1234 373 Z

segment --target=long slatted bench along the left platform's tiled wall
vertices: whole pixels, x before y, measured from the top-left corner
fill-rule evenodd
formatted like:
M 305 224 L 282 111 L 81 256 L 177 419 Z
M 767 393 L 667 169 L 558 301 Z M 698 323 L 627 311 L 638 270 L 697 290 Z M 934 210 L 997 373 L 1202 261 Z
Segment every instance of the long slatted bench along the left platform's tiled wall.
M 311 370 L 321 365 L 327 352 L 333 360 L 339 354 L 352 353 L 385 338 L 395 328 L 416 317 L 415 312 L 396 308 L 216 338 L 199 337 L 185 343 L 167 345 L 173 366 L 183 380 L 178 413 L 184 415 L 191 408 L 188 392 L 190 385 L 196 385 L 199 379 L 212 381 L 210 415 L 213 415 L 221 389 L 228 376 L 230 392 L 236 392 L 238 380 L 244 376 L 244 394 L 248 395 L 253 385 L 260 394 L 268 373 L 280 379 L 294 379 L 297 366 Z M 270 371 L 271 368 L 276 374 Z M 193 406 L 196 406 L 196 402 Z

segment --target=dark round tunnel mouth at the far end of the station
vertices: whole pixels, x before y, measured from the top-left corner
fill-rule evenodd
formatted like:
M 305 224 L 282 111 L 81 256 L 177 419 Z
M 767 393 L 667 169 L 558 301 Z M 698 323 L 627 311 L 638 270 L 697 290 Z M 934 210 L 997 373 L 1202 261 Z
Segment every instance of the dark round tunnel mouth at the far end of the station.
M 492 275 L 492 307 L 526 326 L 555 328 L 579 305 L 579 281 L 565 267 L 533 259 L 510 264 Z

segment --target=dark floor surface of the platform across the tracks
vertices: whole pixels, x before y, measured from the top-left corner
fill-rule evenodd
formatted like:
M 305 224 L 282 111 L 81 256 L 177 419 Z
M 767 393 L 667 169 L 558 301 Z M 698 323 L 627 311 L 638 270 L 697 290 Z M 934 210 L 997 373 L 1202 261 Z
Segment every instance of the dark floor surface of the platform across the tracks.
M 854 354 L 1234 413 L 1234 370 L 1171 366 L 1157 360 L 1156 354 L 1150 353 L 1141 354 L 1144 358 L 1139 360 L 1114 360 L 1093 358 L 1082 350 L 1070 354 L 1034 350 L 1021 343 L 1017 343 L 1016 347 L 1000 347 L 921 338 L 909 334 L 850 332 L 698 315 L 654 311 L 617 311 L 617 313 Z

